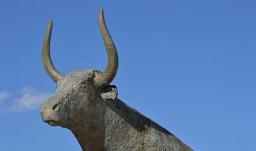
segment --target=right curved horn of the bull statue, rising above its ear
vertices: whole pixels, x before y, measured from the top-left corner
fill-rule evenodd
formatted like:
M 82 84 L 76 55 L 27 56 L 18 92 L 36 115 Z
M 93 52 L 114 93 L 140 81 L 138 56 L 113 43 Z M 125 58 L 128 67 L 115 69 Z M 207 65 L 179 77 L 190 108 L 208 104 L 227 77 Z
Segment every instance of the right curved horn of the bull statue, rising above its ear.
M 106 27 L 103 9 L 100 9 L 99 11 L 99 27 L 108 53 L 108 65 L 102 73 L 96 74 L 95 85 L 104 88 L 108 86 L 116 76 L 118 69 L 118 56 L 116 46 L 112 41 L 109 30 Z

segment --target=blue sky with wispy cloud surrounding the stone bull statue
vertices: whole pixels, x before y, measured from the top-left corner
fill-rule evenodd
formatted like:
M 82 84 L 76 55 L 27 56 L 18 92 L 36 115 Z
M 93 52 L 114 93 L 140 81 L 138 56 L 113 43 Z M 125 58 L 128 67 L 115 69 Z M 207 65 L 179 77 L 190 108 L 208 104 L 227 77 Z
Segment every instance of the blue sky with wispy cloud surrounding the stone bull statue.
M 99 9 L 119 53 L 119 98 L 199 151 L 256 150 L 254 0 L 0 1 L 0 150 L 81 150 L 41 120 L 55 91 L 41 59 L 47 20 L 62 74 L 106 67 Z

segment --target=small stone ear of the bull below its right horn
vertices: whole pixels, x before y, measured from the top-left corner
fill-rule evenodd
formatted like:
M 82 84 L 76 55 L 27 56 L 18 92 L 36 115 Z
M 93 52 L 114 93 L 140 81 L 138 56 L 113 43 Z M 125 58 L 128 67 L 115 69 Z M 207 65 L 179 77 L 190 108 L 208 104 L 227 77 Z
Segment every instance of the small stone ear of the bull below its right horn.
M 117 94 L 118 92 L 115 85 L 109 85 L 106 88 L 102 88 L 101 91 L 102 100 L 116 100 Z

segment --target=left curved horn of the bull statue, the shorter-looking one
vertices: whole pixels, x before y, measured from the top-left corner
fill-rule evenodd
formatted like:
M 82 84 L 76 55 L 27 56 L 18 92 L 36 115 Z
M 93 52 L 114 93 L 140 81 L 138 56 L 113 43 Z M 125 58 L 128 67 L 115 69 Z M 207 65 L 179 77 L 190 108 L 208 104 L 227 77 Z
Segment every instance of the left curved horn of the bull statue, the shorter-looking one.
M 42 49 L 42 57 L 43 57 L 43 67 L 47 70 L 47 74 L 50 75 L 50 78 L 57 83 L 58 80 L 63 77 L 63 75 L 54 67 L 52 60 L 50 59 L 50 36 L 51 31 L 53 29 L 53 22 L 51 20 L 48 21 L 47 31 L 43 40 L 43 49 Z

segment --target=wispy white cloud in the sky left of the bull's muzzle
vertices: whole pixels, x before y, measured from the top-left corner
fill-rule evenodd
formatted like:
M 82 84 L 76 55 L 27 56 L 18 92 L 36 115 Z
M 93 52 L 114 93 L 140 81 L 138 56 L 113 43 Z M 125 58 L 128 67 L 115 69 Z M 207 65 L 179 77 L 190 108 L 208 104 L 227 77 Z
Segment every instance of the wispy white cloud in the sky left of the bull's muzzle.
M 38 108 L 43 101 L 50 98 L 51 94 L 37 91 L 34 88 L 25 87 L 14 97 L 12 105 L 2 109 L 2 112 L 26 112 Z M 7 92 L 0 93 L 0 102 L 8 98 Z

